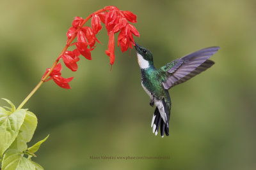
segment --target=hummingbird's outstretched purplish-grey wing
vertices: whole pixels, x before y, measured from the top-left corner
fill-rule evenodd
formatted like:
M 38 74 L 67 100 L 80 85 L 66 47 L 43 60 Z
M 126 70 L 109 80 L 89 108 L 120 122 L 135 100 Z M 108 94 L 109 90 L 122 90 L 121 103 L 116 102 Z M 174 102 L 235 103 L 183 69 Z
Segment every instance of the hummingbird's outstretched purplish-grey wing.
M 164 89 L 168 90 L 175 85 L 183 83 L 211 67 L 214 62 L 208 59 L 219 49 L 219 46 L 204 48 L 180 59 L 173 60 L 159 68 L 157 72 L 160 75 Z

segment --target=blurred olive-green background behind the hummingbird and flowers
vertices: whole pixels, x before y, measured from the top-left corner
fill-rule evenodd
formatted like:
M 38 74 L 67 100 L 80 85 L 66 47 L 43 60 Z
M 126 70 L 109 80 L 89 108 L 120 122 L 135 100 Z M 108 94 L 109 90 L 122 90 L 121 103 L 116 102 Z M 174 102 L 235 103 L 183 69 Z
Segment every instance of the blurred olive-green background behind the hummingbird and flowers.
M 65 46 L 74 17 L 107 5 L 130 10 L 161 67 L 220 46 L 216 64 L 170 90 L 170 136 L 154 136 L 154 108 L 141 87 L 136 53 L 116 48 L 109 73 L 106 29 L 93 60 L 81 57 L 72 89 L 53 81 L 24 106 L 38 117 L 30 145 L 50 134 L 33 159 L 45 169 L 256 169 L 256 1 L 17 1 L 0 3 L 0 97 L 16 106 Z M 6 106 L 0 101 L 1 106 Z M 168 160 L 92 160 L 90 156 L 168 156 Z

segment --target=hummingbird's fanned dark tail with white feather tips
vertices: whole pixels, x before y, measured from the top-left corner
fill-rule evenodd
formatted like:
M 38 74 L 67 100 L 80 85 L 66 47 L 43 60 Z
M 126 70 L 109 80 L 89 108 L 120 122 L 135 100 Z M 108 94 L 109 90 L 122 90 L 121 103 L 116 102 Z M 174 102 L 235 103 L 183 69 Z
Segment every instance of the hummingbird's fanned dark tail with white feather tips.
M 151 127 L 153 127 L 153 133 L 156 136 L 157 136 L 159 127 L 160 127 L 160 132 L 161 132 L 162 138 L 164 137 L 164 132 L 165 132 L 166 136 L 169 136 L 169 120 L 167 120 L 166 123 L 164 123 L 164 120 L 161 117 L 160 112 L 157 107 L 156 107 L 156 110 L 155 110 L 153 118 L 152 118 Z

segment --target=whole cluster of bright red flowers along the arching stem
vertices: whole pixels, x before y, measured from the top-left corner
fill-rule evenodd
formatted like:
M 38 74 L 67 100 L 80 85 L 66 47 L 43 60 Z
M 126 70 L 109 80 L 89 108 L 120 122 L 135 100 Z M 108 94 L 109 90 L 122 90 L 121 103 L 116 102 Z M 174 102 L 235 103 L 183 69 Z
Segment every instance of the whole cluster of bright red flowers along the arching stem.
M 91 27 L 84 26 L 84 24 L 91 20 Z M 125 52 L 129 48 L 134 46 L 133 36 L 140 36 L 134 25 L 130 24 L 136 22 L 136 15 L 131 11 L 121 11 L 115 6 L 106 6 L 102 10 L 92 13 L 86 19 L 76 17 L 72 22 L 72 27 L 67 32 L 67 47 L 76 45 L 76 49 L 73 51 L 65 51 L 61 53 L 57 62 L 62 59 L 64 64 L 72 71 L 77 71 L 77 62 L 79 61 L 79 55 L 83 55 L 86 59 L 92 60 L 91 51 L 95 49 L 95 43 L 100 41 L 96 38 L 98 32 L 102 29 L 101 23 L 106 25 L 108 31 L 109 42 L 108 50 L 106 54 L 109 56 L 111 67 L 115 62 L 115 34 L 118 34 L 118 46 L 121 46 L 122 52 Z M 76 43 L 70 44 L 74 38 L 77 38 Z M 49 72 L 47 69 L 44 76 Z M 54 80 L 54 82 L 65 89 L 70 89 L 68 82 L 72 78 L 63 78 L 60 76 L 61 65 L 58 64 L 49 74 L 51 78 L 44 80 Z M 43 76 L 43 78 L 44 78 Z

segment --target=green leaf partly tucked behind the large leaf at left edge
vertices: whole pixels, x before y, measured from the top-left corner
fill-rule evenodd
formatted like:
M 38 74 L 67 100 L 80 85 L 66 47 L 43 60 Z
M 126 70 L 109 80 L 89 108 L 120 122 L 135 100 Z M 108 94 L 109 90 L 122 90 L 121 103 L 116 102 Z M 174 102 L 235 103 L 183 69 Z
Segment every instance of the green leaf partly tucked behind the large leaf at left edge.
M 36 130 L 37 118 L 31 111 L 26 111 L 26 117 L 20 127 L 19 134 L 15 141 L 13 141 L 10 148 L 24 151 L 28 148 L 27 143 L 32 139 Z

